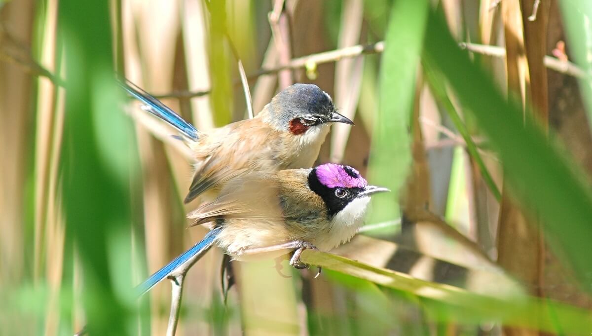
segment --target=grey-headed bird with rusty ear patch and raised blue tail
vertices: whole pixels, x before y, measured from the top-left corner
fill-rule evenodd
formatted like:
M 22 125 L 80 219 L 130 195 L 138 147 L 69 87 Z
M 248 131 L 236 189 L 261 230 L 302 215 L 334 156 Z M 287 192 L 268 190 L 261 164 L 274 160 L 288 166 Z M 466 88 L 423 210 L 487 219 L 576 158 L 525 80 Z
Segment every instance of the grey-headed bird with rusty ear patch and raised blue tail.
M 195 173 L 185 203 L 218 192 L 234 177 L 252 172 L 310 168 L 333 122 L 353 125 L 335 111 L 331 97 L 312 84 L 279 92 L 253 119 L 198 131 L 172 109 L 133 83 L 121 83 L 156 117 L 172 125 L 191 148 Z

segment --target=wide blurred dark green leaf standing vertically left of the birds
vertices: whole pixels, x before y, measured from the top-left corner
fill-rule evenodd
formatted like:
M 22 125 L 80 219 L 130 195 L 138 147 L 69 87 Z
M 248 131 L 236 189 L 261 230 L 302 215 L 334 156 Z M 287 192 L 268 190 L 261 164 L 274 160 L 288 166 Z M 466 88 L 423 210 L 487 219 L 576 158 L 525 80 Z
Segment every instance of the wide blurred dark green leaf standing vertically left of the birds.
M 81 261 L 89 332 L 126 335 L 131 324 L 123 296 L 134 299 L 125 289 L 131 285 L 130 185 L 139 170 L 134 130 L 118 104 L 109 7 L 68 0 L 59 6 L 68 74 L 61 161 L 66 244 Z

